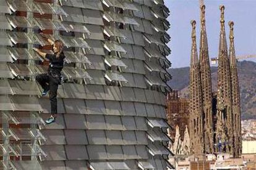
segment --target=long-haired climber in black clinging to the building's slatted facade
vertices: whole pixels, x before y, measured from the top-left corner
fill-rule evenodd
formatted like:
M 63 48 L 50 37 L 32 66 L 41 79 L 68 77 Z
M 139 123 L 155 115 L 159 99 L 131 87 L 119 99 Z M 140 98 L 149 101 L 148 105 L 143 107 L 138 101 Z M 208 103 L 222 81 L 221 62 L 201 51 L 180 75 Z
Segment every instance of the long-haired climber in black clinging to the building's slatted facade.
M 61 84 L 61 70 L 64 65 L 65 55 L 62 52 L 64 47 L 63 42 L 60 40 L 52 41 L 47 39 L 53 45 L 54 54 L 46 54 L 40 49 L 33 48 L 43 59 L 49 60 L 48 73 L 43 73 L 36 76 L 36 81 L 43 88 L 42 96 L 46 95 L 49 91 L 49 100 L 51 103 L 51 116 L 45 120 L 46 124 L 54 123 L 57 116 L 57 91 L 58 86 Z

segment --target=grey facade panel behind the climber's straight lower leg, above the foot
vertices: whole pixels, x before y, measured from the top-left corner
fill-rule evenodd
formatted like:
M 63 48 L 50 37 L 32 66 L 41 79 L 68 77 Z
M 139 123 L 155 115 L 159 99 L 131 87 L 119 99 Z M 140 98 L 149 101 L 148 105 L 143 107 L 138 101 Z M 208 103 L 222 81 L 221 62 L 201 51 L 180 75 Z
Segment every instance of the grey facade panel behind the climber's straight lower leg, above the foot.
M 39 98 L 38 102 L 43 108 L 43 113 L 51 113 L 51 105 L 48 98 L 45 98 L 45 97 Z M 58 105 L 58 113 L 66 113 L 62 99 L 57 100 L 57 105 Z

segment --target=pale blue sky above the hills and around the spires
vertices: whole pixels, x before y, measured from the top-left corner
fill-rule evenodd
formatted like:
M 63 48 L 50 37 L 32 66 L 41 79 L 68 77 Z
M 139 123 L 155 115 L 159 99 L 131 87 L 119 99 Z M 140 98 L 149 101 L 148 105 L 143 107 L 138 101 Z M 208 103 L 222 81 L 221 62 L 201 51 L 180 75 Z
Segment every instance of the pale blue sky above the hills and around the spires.
M 200 9 L 198 0 L 164 0 L 169 8 L 168 30 L 171 41 L 168 46 L 171 55 L 168 59 L 171 68 L 187 67 L 191 51 L 190 20 L 197 21 L 197 48 L 200 42 Z M 218 56 L 220 37 L 220 5 L 225 6 L 226 38 L 229 46 L 228 22 L 234 22 L 234 42 L 236 55 L 256 55 L 256 0 L 205 0 L 205 17 L 210 57 Z M 250 59 L 256 62 L 255 59 Z

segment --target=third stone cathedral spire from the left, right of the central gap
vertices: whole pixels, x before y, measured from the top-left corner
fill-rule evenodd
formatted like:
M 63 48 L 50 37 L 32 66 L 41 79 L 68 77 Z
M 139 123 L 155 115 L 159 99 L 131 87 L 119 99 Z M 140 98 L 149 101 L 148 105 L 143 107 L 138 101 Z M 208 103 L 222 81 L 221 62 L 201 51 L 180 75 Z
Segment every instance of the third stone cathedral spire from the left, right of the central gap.
M 228 59 L 228 46 L 224 26 L 224 6 L 221 10 L 221 31 L 218 56 L 218 95 L 216 141 L 221 141 L 221 152 L 234 153 L 233 147 L 233 111 L 231 97 L 231 75 Z M 220 129 L 221 128 L 221 129 Z M 224 134 L 223 134 L 224 133 Z M 220 150 L 217 150 L 220 152 Z

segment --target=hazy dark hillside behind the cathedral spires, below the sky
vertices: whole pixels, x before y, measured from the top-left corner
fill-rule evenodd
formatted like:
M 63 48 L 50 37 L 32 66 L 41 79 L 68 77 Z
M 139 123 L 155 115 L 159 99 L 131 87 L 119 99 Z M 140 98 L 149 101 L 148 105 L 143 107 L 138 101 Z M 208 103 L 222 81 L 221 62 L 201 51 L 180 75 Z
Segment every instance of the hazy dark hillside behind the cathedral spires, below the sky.
M 242 119 L 256 119 L 256 63 L 242 61 L 237 63 L 240 84 Z M 181 91 L 182 97 L 189 93 L 189 67 L 171 68 L 173 79 L 168 82 L 173 89 Z M 211 68 L 213 91 L 216 91 L 217 68 Z

